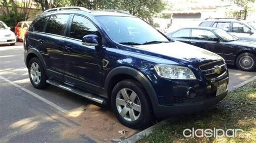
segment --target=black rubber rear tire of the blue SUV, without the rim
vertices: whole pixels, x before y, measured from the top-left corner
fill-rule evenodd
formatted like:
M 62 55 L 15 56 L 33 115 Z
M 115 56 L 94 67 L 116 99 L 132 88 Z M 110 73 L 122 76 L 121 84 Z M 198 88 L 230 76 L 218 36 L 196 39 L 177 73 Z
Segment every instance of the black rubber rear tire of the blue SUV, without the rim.
M 41 71 L 41 80 L 38 84 L 35 84 L 31 78 L 31 75 L 30 75 L 30 68 L 31 68 L 31 65 L 32 63 L 36 62 L 40 68 L 40 71 Z M 30 79 L 30 82 L 31 84 L 33 85 L 33 87 L 37 88 L 37 89 L 43 89 L 43 88 L 46 88 L 47 87 L 47 83 L 46 83 L 46 75 L 45 75 L 45 71 L 43 69 L 43 66 L 41 64 L 41 62 L 37 59 L 37 58 L 32 58 L 30 61 L 29 61 L 29 66 L 28 66 L 28 69 L 29 69 L 29 79 Z

